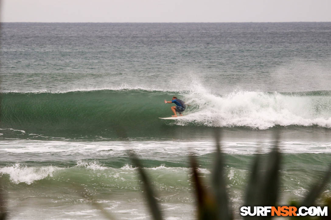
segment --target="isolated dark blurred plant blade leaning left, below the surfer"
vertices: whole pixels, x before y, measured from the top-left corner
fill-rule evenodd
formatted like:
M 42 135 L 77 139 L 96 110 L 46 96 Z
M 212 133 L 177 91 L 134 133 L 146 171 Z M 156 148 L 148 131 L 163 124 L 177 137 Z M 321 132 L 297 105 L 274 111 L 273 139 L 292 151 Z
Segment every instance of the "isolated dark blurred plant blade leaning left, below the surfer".
M 152 184 L 148 179 L 146 172 L 143 170 L 139 159 L 132 152 L 130 153 L 130 157 L 133 164 L 137 167 L 138 172 L 140 174 L 140 178 L 143 181 L 144 191 L 146 192 L 148 206 L 152 213 L 153 219 L 162 220 L 161 209 L 159 207 L 157 200 L 155 199 L 156 197 L 154 196 L 155 194 L 153 192 Z

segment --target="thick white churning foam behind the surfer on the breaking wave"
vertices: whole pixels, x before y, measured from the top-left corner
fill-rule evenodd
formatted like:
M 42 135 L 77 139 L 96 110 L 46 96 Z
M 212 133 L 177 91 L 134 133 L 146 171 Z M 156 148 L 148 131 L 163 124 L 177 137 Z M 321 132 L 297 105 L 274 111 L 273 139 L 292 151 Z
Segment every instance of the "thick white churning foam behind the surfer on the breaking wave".
M 218 96 L 204 90 L 185 95 L 196 111 L 176 121 L 210 127 L 320 126 L 331 128 L 331 96 L 237 91 Z

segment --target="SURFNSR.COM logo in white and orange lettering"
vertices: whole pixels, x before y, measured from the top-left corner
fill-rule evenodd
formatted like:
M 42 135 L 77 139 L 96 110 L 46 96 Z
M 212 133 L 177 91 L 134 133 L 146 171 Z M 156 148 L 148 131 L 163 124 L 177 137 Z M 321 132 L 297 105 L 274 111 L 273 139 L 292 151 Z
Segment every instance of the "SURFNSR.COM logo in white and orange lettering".
M 242 216 L 328 216 L 328 207 L 324 206 L 242 206 Z

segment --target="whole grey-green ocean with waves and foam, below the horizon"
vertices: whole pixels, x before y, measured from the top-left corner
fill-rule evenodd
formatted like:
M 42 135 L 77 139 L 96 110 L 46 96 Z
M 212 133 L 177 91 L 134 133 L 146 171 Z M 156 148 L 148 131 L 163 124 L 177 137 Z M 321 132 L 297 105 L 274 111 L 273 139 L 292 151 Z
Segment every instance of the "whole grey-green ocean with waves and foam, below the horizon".
M 82 191 L 116 219 L 150 219 L 129 150 L 165 218 L 194 219 L 188 157 L 209 185 L 215 131 L 236 219 L 255 154 L 279 144 L 279 204 L 330 165 L 331 22 L 2 23 L 0 60 L 10 219 L 106 219 Z M 184 117 L 159 119 L 174 95 Z

